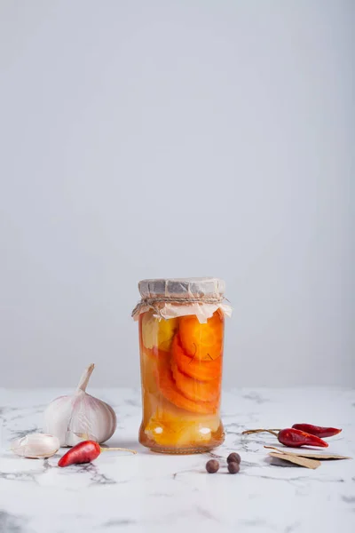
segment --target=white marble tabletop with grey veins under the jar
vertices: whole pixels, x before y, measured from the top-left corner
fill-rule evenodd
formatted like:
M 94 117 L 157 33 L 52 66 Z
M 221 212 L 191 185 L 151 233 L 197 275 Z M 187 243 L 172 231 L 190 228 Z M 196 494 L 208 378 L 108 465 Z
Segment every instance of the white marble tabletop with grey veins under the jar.
M 259 426 L 340 426 L 343 433 L 329 439 L 328 450 L 355 457 L 355 391 L 225 393 L 227 437 L 216 454 L 239 451 L 237 475 L 206 473 L 209 454 L 164 456 L 139 446 L 140 394 L 129 389 L 90 392 L 117 412 L 117 432 L 109 443 L 135 448 L 137 456 L 107 452 L 91 465 L 65 469 L 57 467 L 59 454 L 48 460 L 13 456 L 9 442 L 41 430 L 44 407 L 66 392 L 0 389 L 1 533 L 355 531 L 355 460 L 324 462 L 314 471 L 272 465 L 263 447 L 275 444 L 272 435 L 241 438 L 243 429 Z

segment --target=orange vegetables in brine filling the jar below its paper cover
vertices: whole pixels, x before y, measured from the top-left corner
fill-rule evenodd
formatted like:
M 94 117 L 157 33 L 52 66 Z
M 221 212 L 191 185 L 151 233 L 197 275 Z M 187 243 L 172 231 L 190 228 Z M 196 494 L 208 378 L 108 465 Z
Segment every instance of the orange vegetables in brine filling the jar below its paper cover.
M 219 417 L 224 316 L 139 317 L 143 419 L 139 442 L 154 451 L 198 453 L 225 439 Z

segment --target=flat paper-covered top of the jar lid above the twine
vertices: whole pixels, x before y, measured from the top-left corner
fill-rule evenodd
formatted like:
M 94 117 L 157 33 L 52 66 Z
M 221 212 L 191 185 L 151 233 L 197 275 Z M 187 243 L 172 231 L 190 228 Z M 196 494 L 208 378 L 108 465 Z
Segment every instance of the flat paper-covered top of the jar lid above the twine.
M 142 298 L 217 298 L 225 294 L 225 282 L 213 277 L 142 280 Z

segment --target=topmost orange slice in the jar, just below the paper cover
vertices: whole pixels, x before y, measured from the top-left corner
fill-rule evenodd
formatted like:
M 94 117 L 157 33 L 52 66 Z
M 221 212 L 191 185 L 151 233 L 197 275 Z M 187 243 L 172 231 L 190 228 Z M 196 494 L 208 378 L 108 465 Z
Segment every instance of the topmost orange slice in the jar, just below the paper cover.
M 194 314 L 180 319 L 181 344 L 188 355 L 201 361 L 214 361 L 221 356 L 223 330 L 224 317 L 219 311 L 205 324 L 201 324 Z

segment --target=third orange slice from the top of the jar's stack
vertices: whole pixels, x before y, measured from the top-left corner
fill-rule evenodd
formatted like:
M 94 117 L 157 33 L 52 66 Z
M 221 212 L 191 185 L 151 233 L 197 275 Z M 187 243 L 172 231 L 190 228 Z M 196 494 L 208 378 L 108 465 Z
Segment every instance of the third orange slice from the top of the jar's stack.
M 198 381 L 186 376 L 177 367 L 177 362 L 171 362 L 172 376 L 177 388 L 193 402 L 213 402 L 219 394 L 219 379 L 213 381 Z

